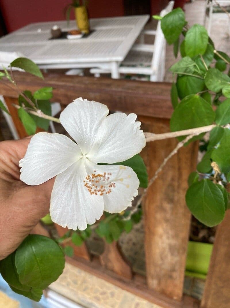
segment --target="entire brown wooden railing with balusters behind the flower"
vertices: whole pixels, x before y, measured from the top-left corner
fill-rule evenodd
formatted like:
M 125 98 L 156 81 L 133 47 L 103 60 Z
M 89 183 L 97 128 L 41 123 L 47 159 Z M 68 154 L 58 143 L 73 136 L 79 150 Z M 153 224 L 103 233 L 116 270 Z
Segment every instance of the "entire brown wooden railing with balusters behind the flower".
M 92 77 L 45 75 L 45 81 L 25 73 L 15 72 L 21 90 L 36 91 L 40 87 L 54 88 L 53 101 L 63 106 L 77 97 L 106 104 L 110 110 L 134 112 L 148 132 L 169 131 L 172 113 L 169 83 L 130 80 L 96 79 Z M 9 91 L 0 82 L 14 124 L 21 138 L 26 132 L 12 103 L 17 103 L 17 91 Z M 177 140 L 150 142 L 141 152 L 149 177 L 175 148 Z M 93 257 L 87 246 L 74 247 L 74 257 L 67 261 L 97 275 L 116 286 L 146 298 L 162 307 L 227 308 L 230 302 L 230 213 L 218 227 L 213 255 L 201 304 L 183 296 L 186 251 L 190 230 L 190 212 L 185 204 L 187 178 L 197 164 L 198 144 L 183 147 L 169 160 L 158 176 L 142 206 L 144 209 L 146 277 L 132 272 L 120 253 L 117 243 L 105 243 L 99 257 Z M 66 230 L 56 226 L 59 235 Z M 69 245 L 69 244 L 68 244 Z

